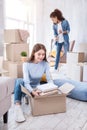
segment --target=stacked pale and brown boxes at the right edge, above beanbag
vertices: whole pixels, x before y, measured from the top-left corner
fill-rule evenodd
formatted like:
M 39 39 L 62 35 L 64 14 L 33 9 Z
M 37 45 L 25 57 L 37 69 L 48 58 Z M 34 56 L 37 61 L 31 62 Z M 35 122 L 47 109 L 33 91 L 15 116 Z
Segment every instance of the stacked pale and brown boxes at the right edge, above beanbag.
M 66 75 L 77 81 L 87 81 L 87 44 L 79 44 L 77 52 L 67 53 Z

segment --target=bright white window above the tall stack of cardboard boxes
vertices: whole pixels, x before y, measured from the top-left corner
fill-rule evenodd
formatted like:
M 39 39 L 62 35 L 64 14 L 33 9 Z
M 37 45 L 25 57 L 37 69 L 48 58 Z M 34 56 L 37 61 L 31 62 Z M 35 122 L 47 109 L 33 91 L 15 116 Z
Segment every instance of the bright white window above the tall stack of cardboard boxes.
M 30 33 L 29 49 L 34 43 L 34 23 L 31 8 L 20 0 L 5 0 L 5 29 L 24 29 Z

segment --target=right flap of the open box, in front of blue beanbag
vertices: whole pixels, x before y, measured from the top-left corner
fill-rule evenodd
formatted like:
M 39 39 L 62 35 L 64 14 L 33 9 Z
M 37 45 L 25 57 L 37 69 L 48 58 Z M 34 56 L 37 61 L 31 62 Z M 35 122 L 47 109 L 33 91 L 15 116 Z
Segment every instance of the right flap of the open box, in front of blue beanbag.
M 62 91 L 62 93 L 68 94 L 72 89 L 74 89 L 75 86 L 70 84 L 70 83 L 65 83 L 63 84 L 61 87 L 59 87 L 58 89 L 60 91 Z

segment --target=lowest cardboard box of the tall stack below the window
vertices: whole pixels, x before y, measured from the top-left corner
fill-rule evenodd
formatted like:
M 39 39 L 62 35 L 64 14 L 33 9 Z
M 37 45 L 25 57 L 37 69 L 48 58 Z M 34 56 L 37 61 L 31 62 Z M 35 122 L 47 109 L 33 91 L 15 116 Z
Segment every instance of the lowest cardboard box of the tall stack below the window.
M 22 64 L 23 64 L 22 62 L 4 61 L 3 68 L 8 71 L 10 77 L 22 78 L 23 77 Z

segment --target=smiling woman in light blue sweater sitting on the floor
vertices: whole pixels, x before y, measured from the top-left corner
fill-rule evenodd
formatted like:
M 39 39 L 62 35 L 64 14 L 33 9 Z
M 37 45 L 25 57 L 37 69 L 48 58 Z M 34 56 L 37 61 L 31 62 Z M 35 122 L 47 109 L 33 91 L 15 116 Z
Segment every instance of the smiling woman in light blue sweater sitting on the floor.
M 47 82 L 53 82 L 50 77 L 49 65 L 46 59 L 46 48 L 43 44 L 36 44 L 33 47 L 29 62 L 23 64 L 23 79 L 17 79 L 15 84 L 15 120 L 17 122 L 25 121 L 21 109 L 21 86 L 23 84 L 33 96 L 39 96 L 39 91 L 35 91 L 40 84 L 42 75 L 46 73 Z

